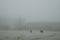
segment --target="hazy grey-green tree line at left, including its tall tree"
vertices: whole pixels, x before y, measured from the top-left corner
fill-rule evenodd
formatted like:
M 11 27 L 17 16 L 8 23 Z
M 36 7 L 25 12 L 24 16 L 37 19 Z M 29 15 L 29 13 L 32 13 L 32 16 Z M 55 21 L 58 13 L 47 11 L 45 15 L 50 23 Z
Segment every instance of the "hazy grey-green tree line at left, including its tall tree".
M 14 25 L 8 25 L 7 18 L 0 17 L 0 30 L 22 30 L 24 27 L 24 20 L 19 18 L 17 23 Z

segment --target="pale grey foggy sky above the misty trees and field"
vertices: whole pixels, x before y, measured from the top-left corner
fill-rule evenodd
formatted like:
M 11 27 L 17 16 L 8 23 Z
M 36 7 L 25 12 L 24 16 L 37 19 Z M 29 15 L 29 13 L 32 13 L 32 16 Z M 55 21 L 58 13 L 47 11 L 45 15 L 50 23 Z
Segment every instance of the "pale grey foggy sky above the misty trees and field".
M 60 0 L 0 0 L 0 16 L 60 22 Z

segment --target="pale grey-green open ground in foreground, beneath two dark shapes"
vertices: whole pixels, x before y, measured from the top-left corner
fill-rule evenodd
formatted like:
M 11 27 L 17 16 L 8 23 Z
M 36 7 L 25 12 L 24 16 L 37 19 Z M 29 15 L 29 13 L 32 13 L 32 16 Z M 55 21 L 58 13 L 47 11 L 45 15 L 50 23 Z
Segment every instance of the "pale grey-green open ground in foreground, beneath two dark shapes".
M 60 40 L 60 32 L 0 31 L 0 40 Z

